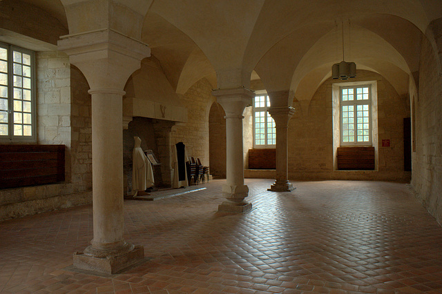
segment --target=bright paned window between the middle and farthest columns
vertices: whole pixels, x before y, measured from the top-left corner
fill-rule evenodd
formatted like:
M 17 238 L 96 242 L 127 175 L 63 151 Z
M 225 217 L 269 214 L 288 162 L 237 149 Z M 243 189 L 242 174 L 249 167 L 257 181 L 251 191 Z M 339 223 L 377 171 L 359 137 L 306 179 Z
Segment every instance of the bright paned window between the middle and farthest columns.
M 267 111 L 270 99 L 267 94 L 256 95 L 253 99 L 253 146 L 256 148 L 275 147 L 275 121 Z

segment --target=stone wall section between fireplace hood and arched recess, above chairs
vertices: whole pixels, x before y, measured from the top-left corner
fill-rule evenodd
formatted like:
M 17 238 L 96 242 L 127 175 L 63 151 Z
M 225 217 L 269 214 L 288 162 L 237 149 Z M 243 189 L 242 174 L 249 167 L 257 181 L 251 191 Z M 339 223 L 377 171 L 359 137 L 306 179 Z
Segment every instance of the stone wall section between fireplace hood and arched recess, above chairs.
M 182 141 L 189 157 L 198 157 L 209 166 L 209 111 L 214 101 L 212 86 L 206 79 L 196 82 L 182 97 L 188 121 L 172 127 L 171 146 Z

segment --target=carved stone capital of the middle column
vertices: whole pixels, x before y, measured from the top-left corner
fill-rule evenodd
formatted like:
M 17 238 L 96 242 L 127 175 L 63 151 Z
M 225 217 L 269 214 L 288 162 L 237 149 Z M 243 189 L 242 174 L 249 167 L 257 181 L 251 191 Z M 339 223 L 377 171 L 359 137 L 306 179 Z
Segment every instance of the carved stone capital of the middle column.
M 216 97 L 219 104 L 226 112 L 226 118 L 242 117 L 244 108 L 253 103 L 255 92 L 248 88 L 224 88 L 212 90 L 212 95 Z

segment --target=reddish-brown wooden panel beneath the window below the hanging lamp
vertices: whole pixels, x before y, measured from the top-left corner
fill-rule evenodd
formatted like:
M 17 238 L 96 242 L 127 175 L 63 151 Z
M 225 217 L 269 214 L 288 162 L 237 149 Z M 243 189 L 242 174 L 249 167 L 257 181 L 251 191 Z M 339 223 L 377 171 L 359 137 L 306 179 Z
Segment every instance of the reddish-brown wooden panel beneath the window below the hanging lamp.
M 338 147 L 338 170 L 374 170 L 374 147 Z

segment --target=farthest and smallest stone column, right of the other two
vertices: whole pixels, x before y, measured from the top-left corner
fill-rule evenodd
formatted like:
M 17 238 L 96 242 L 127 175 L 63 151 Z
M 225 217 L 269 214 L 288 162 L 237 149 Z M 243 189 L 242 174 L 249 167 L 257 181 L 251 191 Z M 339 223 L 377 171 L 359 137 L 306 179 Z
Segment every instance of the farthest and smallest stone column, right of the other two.
M 289 183 L 288 178 L 288 141 L 287 128 L 289 120 L 295 113 L 295 108 L 290 106 L 269 108 L 269 113 L 276 125 L 276 181 L 269 191 L 289 192 L 295 188 Z

